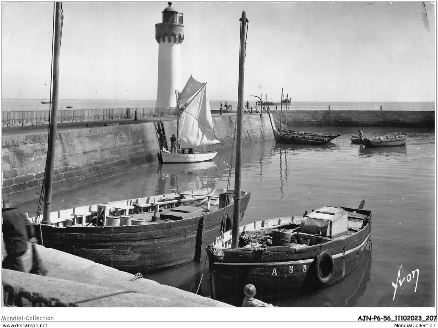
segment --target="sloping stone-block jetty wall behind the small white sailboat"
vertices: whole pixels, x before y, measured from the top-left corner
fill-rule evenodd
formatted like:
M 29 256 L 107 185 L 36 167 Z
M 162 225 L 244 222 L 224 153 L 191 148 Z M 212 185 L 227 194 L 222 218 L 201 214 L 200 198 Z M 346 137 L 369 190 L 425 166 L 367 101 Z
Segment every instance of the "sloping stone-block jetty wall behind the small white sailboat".
M 213 117 L 222 144 L 231 145 L 235 115 Z M 168 145 L 177 120 L 162 121 Z M 273 139 L 268 115 L 244 115 L 243 143 Z M 74 189 L 148 164 L 158 165 L 158 123 L 58 129 L 53 192 Z M 47 154 L 47 133 L 2 136 L 2 195 L 20 204 L 39 199 Z

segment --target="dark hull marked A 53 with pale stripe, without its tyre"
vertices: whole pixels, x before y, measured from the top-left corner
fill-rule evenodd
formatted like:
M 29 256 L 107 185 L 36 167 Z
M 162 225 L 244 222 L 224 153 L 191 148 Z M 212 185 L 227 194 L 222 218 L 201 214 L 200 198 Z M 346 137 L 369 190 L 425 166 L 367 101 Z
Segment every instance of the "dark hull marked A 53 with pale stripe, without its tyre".
M 369 222 L 348 237 L 305 248 L 224 248 L 222 260 L 208 255 L 212 298 L 241 306 L 246 284 L 256 286 L 258 298 L 265 302 L 321 289 L 356 269 L 370 242 Z M 316 278 L 316 258 L 322 251 L 330 253 L 334 262 L 331 278 L 324 284 Z

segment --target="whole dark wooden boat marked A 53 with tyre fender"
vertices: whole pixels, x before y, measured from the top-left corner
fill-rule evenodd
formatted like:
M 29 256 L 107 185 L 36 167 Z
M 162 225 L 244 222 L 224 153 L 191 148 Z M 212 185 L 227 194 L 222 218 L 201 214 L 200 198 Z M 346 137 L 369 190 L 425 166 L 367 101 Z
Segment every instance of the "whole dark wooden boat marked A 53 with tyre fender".
M 239 306 L 251 283 L 258 297 L 272 303 L 339 281 L 371 248 L 371 214 L 326 206 L 304 216 L 250 223 L 240 227 L 238 248 L 230 248 L 227 231 L 207 249 L 212 298 Z

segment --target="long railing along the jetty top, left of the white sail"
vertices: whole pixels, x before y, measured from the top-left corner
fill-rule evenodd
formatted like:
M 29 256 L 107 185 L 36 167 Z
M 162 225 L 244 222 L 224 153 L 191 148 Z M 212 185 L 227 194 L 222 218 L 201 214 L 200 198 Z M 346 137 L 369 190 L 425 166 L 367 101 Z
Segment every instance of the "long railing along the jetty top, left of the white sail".
M 177 115 L 176 108 L 95 108 L 95 109 L 63 109 L 58 111 L 57 122 L 90 122 L 117 119 L 159 117 Z M 2 112 L 2 127 L 31 126 L 49 124 L 49 111 L 14 111 Z

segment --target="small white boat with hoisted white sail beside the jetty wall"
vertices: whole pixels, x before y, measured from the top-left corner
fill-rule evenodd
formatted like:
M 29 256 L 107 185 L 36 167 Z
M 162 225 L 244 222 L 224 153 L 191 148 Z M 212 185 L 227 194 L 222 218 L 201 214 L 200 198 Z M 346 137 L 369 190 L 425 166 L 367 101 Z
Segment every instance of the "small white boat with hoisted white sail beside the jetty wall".
M 161 151 L 162 163 L 194 163 L 212 160 L 217 151 L 195 152 L 193 148 L 220 143 L 215 136 L 212 114 L 208 103 L 207 83 L 190 76 L 177 100 L 177 152 Z M 182 105 L 180 105 L 182 104 Z M 178 142 L 179 141 L 179 142 Z M 178 147 L 179 146 L 179 147 Z M 178 153 L 181 148 L 181 153 Z

